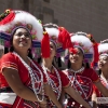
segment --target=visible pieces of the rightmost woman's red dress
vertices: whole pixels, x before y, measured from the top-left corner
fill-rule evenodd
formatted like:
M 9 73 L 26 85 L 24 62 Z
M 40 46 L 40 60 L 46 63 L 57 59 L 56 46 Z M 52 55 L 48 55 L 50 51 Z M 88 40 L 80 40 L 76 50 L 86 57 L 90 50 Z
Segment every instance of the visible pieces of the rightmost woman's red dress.
M 105 87 L 108 89 L 108 82 L 103 76 L 100 76 L 100 82 L 104 84 Z M 97 97 L 104 97 L 103 94 L 99 92 L 99 90 L 95 85 L 93 85 L 93 93 L 95 93 Z M 108 107 L 108 104 L 98 105 L 98 108 L 107 108 L 107 107 Z

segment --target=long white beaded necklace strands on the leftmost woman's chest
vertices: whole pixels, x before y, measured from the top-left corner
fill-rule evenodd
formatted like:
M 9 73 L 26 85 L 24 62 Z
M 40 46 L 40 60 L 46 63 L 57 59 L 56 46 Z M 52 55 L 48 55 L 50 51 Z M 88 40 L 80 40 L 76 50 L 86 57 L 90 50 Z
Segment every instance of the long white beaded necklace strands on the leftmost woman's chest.
M 33 72 L 33 70 L 31 69 L 31 67 L 16 53 L 13 52 L 14 55 L 16 55 L 21 62 L 23 63 L 23 65 L 27 68 L 29 75 L 30 75 L 30 79 L 31 79 L 31 85 L 32 85 L 32 90 L 38 98 L 39 102 L 42 102 L 44 98 L 44 89 L 43 89 L 43 73 L 42 71 L 38 68 L 38 66 L 28 57 L 28 59 L 30 60 L 30 63 L 35 66 L 36 69 L 38 69 L 39 73 L 41 75 L 41 79 L 39 79 L 38 75 L 36 72 Z M 35 86 L 35 82 L 37 83 L 41 83 L 41 87 L 37 87 Z M 40 94 L 42 92 L 42 99 L 40 99 L 38 97 L 38 94 Z

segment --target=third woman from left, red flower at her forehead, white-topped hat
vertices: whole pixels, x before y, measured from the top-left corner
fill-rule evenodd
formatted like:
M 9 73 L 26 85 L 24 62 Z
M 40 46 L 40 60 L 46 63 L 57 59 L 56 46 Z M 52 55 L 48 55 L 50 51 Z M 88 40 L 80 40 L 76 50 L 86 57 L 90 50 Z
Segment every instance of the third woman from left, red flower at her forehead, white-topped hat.
M 97 44 L 93 44 L 90 38 L 91 36 L 85 32 L 72 33 L 71 42 L 73 48 L 69 48 L 68 69 L 64 72 L 69 78 L 71 86 L 80 93 L 83 99 L 92 105 L 93 83 L 105 96 L 108 96 L 108 90 L 103 86 L 97 73 L 89 65 L 93 60 L 95 63 L 97 53 Z M 84 108 L 69 95 L 67 95 L 67 98 L 66 108 Z

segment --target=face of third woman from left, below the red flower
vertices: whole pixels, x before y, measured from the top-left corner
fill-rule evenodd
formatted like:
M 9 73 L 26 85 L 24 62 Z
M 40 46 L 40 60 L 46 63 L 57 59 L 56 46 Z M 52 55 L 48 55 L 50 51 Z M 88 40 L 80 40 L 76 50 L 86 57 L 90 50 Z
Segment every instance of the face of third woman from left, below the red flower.
M 71 64 L 80 65 L 83 63 L 83 53 L 79 48 L 75 48 L 75 50 L 77 50 L 76 54 L 69 52 L 69 60 Z

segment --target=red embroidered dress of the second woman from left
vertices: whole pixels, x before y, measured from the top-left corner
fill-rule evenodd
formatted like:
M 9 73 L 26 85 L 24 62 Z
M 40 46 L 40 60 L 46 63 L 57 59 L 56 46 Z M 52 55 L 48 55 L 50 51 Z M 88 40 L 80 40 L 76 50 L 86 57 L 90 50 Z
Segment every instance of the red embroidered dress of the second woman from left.
M 63 71 L 57 70 L 55 67 L 53 68 L 53 72 L 50 72 L 44 67 L 43 70 L 45 71 L 44 73 L 48 78 L 49 84 L 52 86 L 57 99 L 59 99 L 62 87 L 68 87 L 70 85 L 70 81 Z M 55 105 L 48 98 L 48 96 L 46 99 L 49 102 L 49 108 L 55 108 Z

